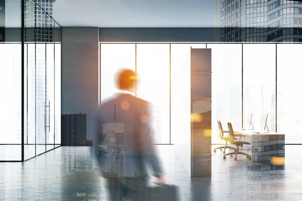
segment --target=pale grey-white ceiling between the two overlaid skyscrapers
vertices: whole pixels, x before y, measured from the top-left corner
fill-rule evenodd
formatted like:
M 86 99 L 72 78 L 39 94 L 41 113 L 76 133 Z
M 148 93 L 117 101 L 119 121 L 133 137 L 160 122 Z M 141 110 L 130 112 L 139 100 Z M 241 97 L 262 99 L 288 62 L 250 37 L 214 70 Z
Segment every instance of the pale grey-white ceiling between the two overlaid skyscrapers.
M 56 0 L 61 26 L 213 27 L 215 0 Z

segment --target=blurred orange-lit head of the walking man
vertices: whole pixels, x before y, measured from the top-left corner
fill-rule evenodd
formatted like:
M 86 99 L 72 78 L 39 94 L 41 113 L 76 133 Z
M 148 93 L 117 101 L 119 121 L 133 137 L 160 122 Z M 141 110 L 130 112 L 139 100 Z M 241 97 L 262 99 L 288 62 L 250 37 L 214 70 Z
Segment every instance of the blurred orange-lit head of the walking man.
M 117 74 L 117 87 L 121 90 L 131 90 L 135 87 L 135 72 L 130 69 L 122 69 Z

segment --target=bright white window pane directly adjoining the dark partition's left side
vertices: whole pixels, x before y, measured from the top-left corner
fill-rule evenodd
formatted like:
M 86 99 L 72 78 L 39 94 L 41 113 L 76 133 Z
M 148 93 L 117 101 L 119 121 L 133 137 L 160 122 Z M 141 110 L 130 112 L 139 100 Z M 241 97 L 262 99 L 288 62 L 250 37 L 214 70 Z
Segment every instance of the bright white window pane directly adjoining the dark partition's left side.
M 171 44 L 171 143 L 191 134 L 191 48 L 205 44 Z

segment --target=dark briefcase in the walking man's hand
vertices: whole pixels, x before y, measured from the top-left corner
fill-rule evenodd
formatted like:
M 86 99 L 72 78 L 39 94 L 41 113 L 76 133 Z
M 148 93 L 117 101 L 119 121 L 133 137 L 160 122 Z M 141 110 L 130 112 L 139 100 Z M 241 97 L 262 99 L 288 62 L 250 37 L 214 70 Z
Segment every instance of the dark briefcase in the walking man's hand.
M 160 185 L 149 187 L 150 201 L 178 201 L 178 186 Z

